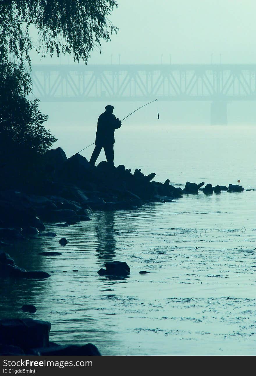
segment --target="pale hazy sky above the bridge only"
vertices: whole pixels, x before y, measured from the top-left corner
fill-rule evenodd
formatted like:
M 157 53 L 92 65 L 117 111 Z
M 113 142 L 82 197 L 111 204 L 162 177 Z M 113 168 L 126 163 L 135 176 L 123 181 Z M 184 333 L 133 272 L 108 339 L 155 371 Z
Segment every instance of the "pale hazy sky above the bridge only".
M 110 19 L 119 27 L 88 64 L 239 63 L 256 61 L 254 0 L 120 0 Z M 161 55 L 163 56 L 161 57 Z M 72 63 L 62 57 L 61 64 Z M 33 63 L 39 58 L 33 55 Z M 57 63 L 56 58 L 41 63 Z

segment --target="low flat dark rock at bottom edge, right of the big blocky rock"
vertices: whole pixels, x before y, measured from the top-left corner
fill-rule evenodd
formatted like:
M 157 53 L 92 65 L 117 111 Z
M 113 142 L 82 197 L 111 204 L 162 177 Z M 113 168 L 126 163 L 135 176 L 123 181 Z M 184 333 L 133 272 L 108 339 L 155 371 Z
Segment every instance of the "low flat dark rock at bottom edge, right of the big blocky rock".
M 42 356 L 92 356 L 92 355 L 101 355 L 96 346 L 91 343 L 88 343 L 84 346 L 69 345 L 69 346 L 50 346 L 36 349 Z

